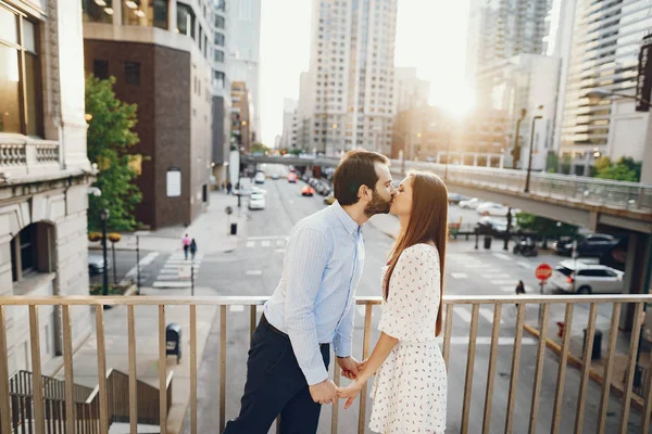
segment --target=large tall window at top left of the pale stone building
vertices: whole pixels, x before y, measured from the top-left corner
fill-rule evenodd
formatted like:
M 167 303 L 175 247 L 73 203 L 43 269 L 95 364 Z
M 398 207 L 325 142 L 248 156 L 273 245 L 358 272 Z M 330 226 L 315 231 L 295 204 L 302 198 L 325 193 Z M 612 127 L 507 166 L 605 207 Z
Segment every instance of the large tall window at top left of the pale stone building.
M 37 41 L 37 24 L 0 5 L 0 132 L 42 136 Z

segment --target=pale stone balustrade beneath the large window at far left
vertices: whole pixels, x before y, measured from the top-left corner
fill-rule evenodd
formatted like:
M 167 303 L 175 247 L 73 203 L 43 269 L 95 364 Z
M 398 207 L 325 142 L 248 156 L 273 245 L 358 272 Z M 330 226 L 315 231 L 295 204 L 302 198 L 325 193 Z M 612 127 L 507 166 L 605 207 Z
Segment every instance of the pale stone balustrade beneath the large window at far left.
M 0 136 L 0 173 L 5 178 L 58 171 L 59 142 L 21 135 Z

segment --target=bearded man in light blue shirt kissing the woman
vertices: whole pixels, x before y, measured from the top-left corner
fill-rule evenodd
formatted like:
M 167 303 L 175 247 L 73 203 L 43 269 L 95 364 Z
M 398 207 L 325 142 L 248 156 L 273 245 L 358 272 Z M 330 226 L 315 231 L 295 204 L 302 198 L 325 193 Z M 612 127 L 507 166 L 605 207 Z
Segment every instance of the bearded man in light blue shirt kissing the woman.
M 389 213 L 396 191 L 389 161 L 350 151 L 334 176 L 336 202 L 299 221 L 288 240 L 280 282 L 253 333 L 240 414 L 224 434 L 316 433 L 322 404 L 337 401 L 328 379 L 330 343 L 342 374 L 351 357 L 355 289 L 362 275 L 362 225 Z

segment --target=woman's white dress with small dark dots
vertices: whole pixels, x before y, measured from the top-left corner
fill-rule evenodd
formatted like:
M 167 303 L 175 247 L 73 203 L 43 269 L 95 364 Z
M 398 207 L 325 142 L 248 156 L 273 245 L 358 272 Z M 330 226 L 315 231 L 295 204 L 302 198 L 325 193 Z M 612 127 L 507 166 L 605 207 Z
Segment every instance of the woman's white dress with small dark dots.
M 399 342 L 378 368 L 372 387 L 369 429 L 375 432 L 439 434 L 446 430 L 447 373 L 435 341 L 439 291 L 437 248 L 428 244 L 405 248 L 378 326 Z

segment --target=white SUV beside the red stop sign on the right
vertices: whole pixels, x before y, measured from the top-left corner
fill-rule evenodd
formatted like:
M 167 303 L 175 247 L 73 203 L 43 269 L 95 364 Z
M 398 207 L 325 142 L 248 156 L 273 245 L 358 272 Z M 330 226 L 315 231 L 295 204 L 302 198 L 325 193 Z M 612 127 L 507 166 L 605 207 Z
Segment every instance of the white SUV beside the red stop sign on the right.
M 624 272 L 605 265 L 563 260 L 552 271 L 550 283 L 577 294 L 622 293 Z

